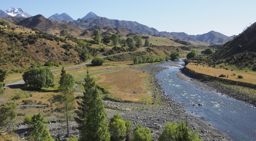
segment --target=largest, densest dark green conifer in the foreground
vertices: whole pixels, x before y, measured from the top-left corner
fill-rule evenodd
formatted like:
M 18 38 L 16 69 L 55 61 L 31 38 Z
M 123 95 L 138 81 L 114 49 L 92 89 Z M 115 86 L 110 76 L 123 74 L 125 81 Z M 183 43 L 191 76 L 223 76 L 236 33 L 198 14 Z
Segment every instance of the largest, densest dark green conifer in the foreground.
M 95 87 L 93 78 L 87 75 L 84 78 L 84 96 L 82 102 L 78 102 L 79 110 L 76 110 L 75 120 L 80 127 L 81 141 L 110 141 L 108 133 L 108 121 L 105 105 Z

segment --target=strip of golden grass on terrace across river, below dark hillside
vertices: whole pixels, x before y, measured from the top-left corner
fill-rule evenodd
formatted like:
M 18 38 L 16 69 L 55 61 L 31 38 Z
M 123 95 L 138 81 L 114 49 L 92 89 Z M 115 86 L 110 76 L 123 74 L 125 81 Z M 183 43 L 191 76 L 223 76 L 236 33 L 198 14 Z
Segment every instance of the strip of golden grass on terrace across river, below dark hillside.
M 233 80 L 233 81 L 239 81 L 239 82 L 246 82 L 246 83 L 251 83 L 251 84 L 256 84 L 256 72 L 241 72 L 241 71 L 231 71 L 231 70 L 225 70 L 223 68 L 212 68 L 212 67 L 207 67 L 203 65 L 195 65 L 195 63 L 189 63 L 188 65 L 186 65 L 187 68 L 194 70 L 198 73 L 203 73 L 203 74 L 207 74 L 210 76 L 220 76 L 221 74 L 224 74 L 226 76 L 228 76 L 228 78 L 225 77 L 221 77 L 223 79 L 229 79 L 229 80 Z M 236 75 L 233 76 L 233 73 L 235 73 Z M 243 76 L 243 79 L 238 79 L 237 76 Z

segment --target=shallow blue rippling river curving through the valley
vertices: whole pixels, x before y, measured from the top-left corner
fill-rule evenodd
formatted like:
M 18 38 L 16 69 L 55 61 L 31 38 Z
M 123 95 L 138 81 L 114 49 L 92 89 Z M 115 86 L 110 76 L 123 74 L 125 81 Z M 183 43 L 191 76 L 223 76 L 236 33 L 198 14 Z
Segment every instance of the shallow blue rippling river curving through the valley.
M 221 93 L 205 92 L 189 82 L 178 79 L 176 73 L 184 65 L 181 59 L 160 65 L 169 67 L 157 74 L 160 85 L 166 94 L 185 104 L 187 113 L 197 117 L 203 116 L 204 121 L 226 133 L 233 141 L 256 141 L 256 108 L 253 105 L 231 99 Z

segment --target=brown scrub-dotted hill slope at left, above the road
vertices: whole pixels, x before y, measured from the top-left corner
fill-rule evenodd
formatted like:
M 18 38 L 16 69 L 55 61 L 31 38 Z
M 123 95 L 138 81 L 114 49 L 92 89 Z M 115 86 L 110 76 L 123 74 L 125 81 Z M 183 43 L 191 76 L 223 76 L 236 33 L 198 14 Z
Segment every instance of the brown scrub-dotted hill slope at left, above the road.
M 2 25 L 0 28 L 0 66 L 8 70 L 24 70 L 47 61 L 78 64 L 82 62 L 80 54 L 83 48 L 87 50 L 88 56 L 92 51 L 97 51 L 90 49 L 90 45 L 84 40 L 74 37 L 55 37 L 12 23 L 8 28 Z

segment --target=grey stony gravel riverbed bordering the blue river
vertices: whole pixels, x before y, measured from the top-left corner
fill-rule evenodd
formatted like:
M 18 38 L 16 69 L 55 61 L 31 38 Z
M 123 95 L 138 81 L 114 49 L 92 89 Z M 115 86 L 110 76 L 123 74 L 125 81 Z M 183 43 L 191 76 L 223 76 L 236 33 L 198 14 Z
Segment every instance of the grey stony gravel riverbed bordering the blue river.
M 183 104 L 175 102 L 172 96 L 166 95 L 159 85 L 156 74 L 166 69 L 159 65 L 143 65 L 130 67 L 151 75 L 151 87 L 154 90 L 154 102 L 151 105 L 129 103 L 129 102 L 112 102 L 104 101 L 106 105 L 106 111 L 108 112 L 108 119 L 116 113 L 119 113 L 122 118 L 130 120 L 134 126 L 138 123 L 142 123 L 144 127 L 148 127 L 153 134 L 154 140 L 157 140 L 159 134 L 163 131 L 164 125 L 167 121 L 179 121 L 184 120 L 189 123 L 189 127 L 192 130 L 198 130 L 199 137 L 204 141 L 230 141 L 224 133 L 220 132 L 215 127 L 203 121 L 204 117 L 197 118 L 189 115 L 185 112 Z M 202 82 L 190 80 L 189 77 L 182 73 L 177 74 L 179 78 L 193 82 L 198 87 L 206 85 Z M 211 87 L 202 87 L 203 90 L 214 90 Z M 157 104 L 157 99 L 161 99 L 161 104 Z M 200 106 L 200 105 L 196 105 Z M 65 141 L 65 123 L 63 121 L 50 121 L 48 124 L 50 134 L 54 138 L 59 138 L 61 141 Z M 70 134 L 79 136 L 79 130 L 75 121 L 70 123 Z M 17 124 L 16 133 L 24 138 L 26 133 L 29 133 L 30 128 L 26 124 Z

